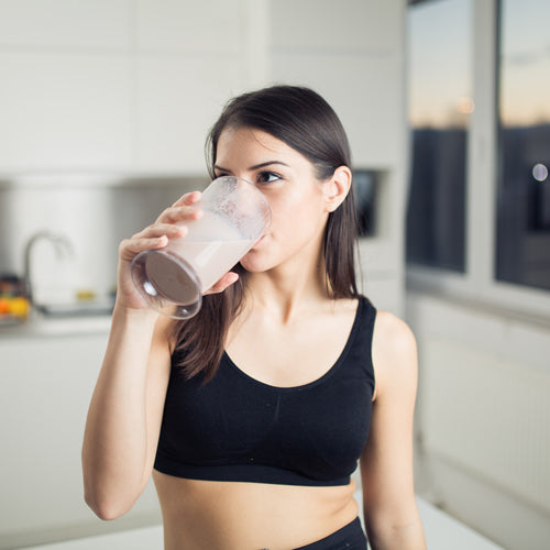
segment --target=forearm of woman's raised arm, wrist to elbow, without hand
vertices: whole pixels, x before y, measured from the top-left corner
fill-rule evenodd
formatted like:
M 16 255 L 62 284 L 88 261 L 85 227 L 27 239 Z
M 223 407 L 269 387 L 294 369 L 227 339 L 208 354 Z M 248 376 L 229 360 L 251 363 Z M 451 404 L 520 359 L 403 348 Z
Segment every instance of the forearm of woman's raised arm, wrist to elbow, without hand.
M 170 362 L 166 323 L 155 320 L 113 311 L 82 446 L 85 499 L 102 519 L 125 514 L 153 470 Z

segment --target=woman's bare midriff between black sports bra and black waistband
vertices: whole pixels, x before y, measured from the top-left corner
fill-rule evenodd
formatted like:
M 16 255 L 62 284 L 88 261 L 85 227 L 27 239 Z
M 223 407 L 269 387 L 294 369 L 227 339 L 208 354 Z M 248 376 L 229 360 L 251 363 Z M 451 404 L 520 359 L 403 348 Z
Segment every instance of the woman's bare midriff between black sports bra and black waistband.
M 300 487 L 185 480 L 155 471 L 166 550 L 290 550 L 358 515 L 354 483 Z

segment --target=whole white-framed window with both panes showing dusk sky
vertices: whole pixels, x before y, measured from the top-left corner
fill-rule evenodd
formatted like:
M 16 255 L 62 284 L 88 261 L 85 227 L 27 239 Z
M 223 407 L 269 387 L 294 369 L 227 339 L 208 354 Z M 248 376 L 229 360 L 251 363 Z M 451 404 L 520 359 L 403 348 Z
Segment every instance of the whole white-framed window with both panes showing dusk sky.
M 550 320 L 549 30 L 550 2 L 409 0 L 410 289 Z

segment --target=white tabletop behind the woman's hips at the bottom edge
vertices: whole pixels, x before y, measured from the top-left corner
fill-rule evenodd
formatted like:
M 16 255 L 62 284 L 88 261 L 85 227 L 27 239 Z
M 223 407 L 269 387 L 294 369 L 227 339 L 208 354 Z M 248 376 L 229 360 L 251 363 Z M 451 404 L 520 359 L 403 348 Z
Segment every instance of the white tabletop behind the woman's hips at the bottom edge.
M 426 501 L 418 498 L 418 509 L 429 550 L 503 550 L 472 529 L 460 524 Z M 69 540 L 26 550 L 162 550 L 161 526 L 122 531 L 114 535 Z

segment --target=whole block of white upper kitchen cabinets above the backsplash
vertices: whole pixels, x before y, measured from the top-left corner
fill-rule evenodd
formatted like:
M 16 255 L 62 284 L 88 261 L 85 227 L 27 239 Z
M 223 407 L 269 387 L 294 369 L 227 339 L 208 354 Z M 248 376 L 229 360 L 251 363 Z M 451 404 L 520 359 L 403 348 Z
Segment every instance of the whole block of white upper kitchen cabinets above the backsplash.
M 207 131 L 254 75 L 254 1 L 3 1 L 0 173 L 205 174 Z

